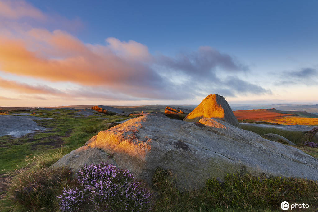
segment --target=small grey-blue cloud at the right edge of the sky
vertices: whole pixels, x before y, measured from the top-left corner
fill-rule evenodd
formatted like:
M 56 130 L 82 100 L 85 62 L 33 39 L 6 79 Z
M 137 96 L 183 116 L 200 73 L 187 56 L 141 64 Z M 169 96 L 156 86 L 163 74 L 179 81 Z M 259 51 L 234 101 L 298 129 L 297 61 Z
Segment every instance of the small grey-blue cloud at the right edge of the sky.
M 275 85 L 293 85 L 293 84 L 303 84 L 307 86 L 312 86 L 318 83 L 318 71 L 314 68 L 301 68 L 297 71 L 284 71 L 279 74 L 280 80 L 275 82 Z

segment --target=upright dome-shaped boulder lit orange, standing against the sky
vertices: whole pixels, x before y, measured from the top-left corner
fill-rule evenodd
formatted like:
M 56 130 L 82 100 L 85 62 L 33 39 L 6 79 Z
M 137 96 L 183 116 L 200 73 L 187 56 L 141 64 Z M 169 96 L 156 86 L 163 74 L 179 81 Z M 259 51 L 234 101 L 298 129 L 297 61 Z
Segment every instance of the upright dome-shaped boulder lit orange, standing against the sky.
M 223 96 L 218 94 L 205 97 L 205 99 L 188 116 L 186 116 L 183 121 L 197 122 L 201 118 L 217 118 L 241 128 L 230 105 Z

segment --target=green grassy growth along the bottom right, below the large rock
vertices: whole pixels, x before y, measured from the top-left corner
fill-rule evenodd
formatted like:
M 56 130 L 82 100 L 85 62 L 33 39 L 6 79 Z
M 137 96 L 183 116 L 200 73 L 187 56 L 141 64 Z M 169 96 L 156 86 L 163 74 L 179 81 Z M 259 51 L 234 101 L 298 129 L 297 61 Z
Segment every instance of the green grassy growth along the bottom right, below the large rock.
M 158 199 L 154 211 L 279 211 L 282 201 L 318 209 L 318 184 L 312 180 L 254 177 L 244 169 L 227 174 L 224 182 L 206 180 L 206 186 L 180 192 L 172 173 L 158 168 L 153 176 Z

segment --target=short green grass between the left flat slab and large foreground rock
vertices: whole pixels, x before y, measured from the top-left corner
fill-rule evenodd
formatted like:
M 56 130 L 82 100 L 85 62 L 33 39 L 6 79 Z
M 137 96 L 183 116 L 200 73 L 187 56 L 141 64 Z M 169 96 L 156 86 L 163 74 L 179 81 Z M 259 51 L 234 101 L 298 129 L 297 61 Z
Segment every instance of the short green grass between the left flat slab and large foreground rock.
M 55 111 L 60 111 L 61 115 L 52 115 Z M 124 120 L 117 116 L 105 115 L 73 117 L 67 115 L 70 114 L 70 111 L 64 110 L 40 110 L 36 113 L 48 114 L 38 117 L 53 118 L 51 120 L 34 120 L 38 125 L 47 128 L 46 131 L 28 134 L 21 138 L 0 137 L 0 174 L 26 166 L 25 158 L 31 154 L 52 153 L 61 145 L 67 147 L 69 151 L 74 150 L 84 145 L 99 131 L 108 129 L 107 123 Z M 109 119 L 102 120 L 96 117 Z

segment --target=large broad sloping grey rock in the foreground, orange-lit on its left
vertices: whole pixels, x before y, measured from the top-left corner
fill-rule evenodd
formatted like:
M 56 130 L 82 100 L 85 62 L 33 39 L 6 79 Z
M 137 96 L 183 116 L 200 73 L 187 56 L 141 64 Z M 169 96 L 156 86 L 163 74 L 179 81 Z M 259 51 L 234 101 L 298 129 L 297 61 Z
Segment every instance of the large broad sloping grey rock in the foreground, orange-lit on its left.
M 113 155 L 118 168 L 128 169 L 150 185 L 156 167 L 170 169 L 181 190 L 204 186 L 209 178 L 224 179 L 226 173 L 236 173 L 242 165 L 255 176 L 265 173 L 318 180 L 314 157 L 212 118 L 193 123 L 149 113 L 100 131 L 86 145 L 53 166 L 69 166 L 77 172 L 85 163 L 109 160 L 106 154 L 99 160 L 87 159 L 90 147 L 93 153 L 89 154 L 101 149 Z

